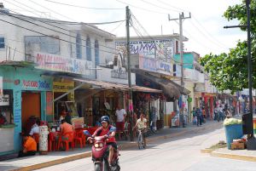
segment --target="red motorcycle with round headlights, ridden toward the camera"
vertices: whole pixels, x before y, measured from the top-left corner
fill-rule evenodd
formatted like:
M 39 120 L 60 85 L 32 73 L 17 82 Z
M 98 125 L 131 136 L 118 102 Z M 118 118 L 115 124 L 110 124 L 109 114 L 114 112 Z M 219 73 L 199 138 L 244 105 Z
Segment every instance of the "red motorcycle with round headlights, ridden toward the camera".
M 109 133 L 115 131 L 115 128 L 110 128 L 107 135 L 93 137 L 89 131 L 85 130 L 84 134 L 91 137 L 93 143 L 91 147 L 92 161 L 95 165 L 95 171 L 119 171 L 119 150 L 113 151 L 112 165 L 108 163 L 108 145 L 107 139 Z

